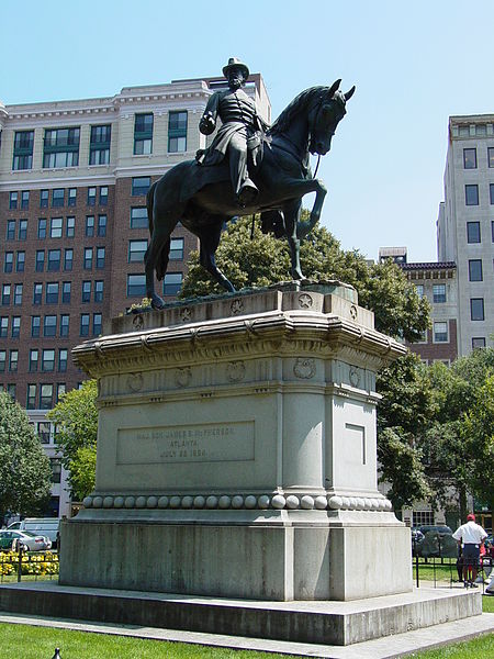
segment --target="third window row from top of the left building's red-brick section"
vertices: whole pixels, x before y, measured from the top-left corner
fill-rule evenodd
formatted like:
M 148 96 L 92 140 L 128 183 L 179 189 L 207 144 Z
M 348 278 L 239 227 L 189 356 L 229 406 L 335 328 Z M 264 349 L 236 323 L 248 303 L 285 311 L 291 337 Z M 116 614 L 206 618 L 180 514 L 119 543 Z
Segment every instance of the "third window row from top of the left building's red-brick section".
M 105 247 L 85 247 L 82 267 L 85 270 L 92 270 L 93 265 L 101 270 L 104 268 L 106 259 Z M 74 249 L 68 247 L 64 249 L 64 270 L 70 271 L 74 266 Z M 45 250 L 36 250 L 35 260 L 36 272 L 45 270 Z M 46 271 L 58 272 L 61 267 L 61 249 L 48 249 L 46 259 Z M 25 268 L 25 252 L 18 252 L 15 255 L 15 272 L 24 272 Z M 3 272 L 9 273 L 14 271 L 14 253 L 5 252 L 3 259 Z

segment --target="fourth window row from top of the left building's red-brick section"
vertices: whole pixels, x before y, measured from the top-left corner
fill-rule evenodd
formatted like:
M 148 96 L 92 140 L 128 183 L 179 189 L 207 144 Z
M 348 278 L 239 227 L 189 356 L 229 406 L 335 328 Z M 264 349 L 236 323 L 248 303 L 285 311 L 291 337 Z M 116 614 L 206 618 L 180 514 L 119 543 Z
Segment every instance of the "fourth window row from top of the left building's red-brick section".
M 71 281 L 48 281 L 45 284 L 38 282 L 33 283 L 33 304 L 43 304 L 43 286 L 45 286 L 46 304 L 58 304 L 58 301 L 60 301 L 63 304 L 70 303 L 72 288 Z M 22 283 L 3 283 L 0 299 L 2 306 L 8 306 L 11 302 L 14 306 L 21 305 L 23 288 L 24 287 Z M 82 281 L 81 288 L 81 302 L 91 302 L 91 297 L 93 298 L 94 302 L 103 301 L 104 281 L 86 280 Z

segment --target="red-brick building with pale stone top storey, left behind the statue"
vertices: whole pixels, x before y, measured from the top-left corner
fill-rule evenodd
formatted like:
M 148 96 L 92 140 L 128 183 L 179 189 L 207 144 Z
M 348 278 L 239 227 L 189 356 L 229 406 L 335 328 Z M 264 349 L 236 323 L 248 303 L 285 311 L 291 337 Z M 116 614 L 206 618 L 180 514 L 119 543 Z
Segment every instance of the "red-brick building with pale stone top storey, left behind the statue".
M 85 375 L 71 348 L 145 294 L 146 192 L 206 146 L 199 120 L 224 79 L 128 87 L 109 98 L 0 103 L 0 387 L 29 411 L 53 460 L 53 513 L 66 514 L 45 413 Z M 259 74 L 246 86 L 261 115 Z M 180 225 L 161 290 L 176 297 L 197 248 Z

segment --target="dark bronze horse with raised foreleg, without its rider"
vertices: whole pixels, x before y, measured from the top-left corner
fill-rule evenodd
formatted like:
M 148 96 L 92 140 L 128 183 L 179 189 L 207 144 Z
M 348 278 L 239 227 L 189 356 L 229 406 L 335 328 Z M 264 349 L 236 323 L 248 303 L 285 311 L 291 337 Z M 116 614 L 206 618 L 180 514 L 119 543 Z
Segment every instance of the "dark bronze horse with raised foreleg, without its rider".
M 155 309 L 164 301 L 155 292 L 154 270 L 164 279 L 168 266 L 170 235 L 180 221 L 200 239 L 200 263 L 227 291 L 232 282 L 215 263 L 215 253 L 225 221 L 238 215 L 261 213 L 266 224 L 287 236 L 294 279 L 303 279 L 300 267 L 300 238 L 321 216 L 326 188 L 312 177 L 310 154 L 324 156 L 330 148 L 336 126 L 344 118 L 345 105 L 355 87 L 343 93 L 340 80 L 332 87 L 312 87 L 300 93 L 268 131 L 263 157 L 251 178 L 259 188 L 255 202 L 239 208 L 235 199 L 226 163 L 205 167 L 195 160 L 179 163 L 153 183 L 147 193 L 150 243 L 144 256 L 146 295 Z M 308 222 L 300 222 L 302 197 L 315 192 Z

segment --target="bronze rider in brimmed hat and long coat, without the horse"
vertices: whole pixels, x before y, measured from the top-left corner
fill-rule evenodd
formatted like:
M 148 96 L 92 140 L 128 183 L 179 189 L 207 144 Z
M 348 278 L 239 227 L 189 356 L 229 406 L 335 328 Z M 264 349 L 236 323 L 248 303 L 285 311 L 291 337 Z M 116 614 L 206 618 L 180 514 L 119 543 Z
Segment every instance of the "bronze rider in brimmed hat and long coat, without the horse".
M 258 115 L 255 102 L 242 89 L 249 77 L 247 65 L 231 57 L 223 67 L 223 75 L 228 80 L 228 89 L 212 94 L 199 130 L 204 135 L 211 135 L 216 127 L 217 116 L 222 125 L 211 146 L 199 153 L 198 161 L 205 166 L 216 165 L 227 155 L 235 196 L 239 205 L 245 206 L 259 192 L 249 177 L 248 150 L 260 144 L 261 134 L 268 125 Z

